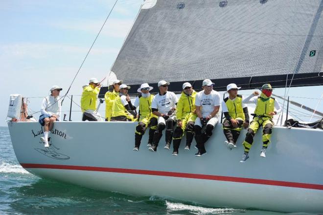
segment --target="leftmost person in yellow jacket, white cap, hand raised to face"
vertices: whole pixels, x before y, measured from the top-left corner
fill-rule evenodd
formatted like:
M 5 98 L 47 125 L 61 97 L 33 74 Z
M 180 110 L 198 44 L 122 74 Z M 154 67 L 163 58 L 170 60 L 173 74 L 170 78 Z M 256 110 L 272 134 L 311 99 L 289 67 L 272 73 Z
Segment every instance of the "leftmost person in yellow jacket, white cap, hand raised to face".
M 100 92 L 101 84 L 96 78 L 91 78 L 89 85 L 83 87 L 81 96 L 82 121 L 100 121 L 101 116 L 96 112 L 96 98 Z

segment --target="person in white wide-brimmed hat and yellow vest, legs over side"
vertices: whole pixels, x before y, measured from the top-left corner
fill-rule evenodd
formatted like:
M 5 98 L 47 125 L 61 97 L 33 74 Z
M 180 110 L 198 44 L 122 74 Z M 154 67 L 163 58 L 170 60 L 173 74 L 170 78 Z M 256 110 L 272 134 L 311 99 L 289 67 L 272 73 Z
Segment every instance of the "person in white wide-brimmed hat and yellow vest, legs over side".
M 141 84 L 138 88 L 137 92 L 141 93 L 135 100 L 134 106 L 139 107 L 139 119 L 138 125 L 135 131 L 135 147 L 134 151 L 138 151 L 140 147 L 140 142 L 142 139 L 142 135 L 144 135 L 147 127 L 149 127 L 149 138 L 147 146 L 152 146 L 154 132 L 157 127 L 157 116 L 153 114 L 151 110 L 151 104 L 154 98 L 154 95 L 150 94 L 153 87 L 149 86 L 149 84 L 144 83 Z

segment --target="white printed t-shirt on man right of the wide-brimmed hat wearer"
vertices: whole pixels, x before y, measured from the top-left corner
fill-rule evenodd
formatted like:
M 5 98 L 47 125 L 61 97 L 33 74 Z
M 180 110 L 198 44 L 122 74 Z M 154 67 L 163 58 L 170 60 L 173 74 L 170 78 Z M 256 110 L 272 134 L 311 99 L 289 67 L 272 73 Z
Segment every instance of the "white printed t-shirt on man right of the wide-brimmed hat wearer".
M 176 108 L 177 96 L 167 91 L 165 95 L 157 94 L 151 103 L 151 108 L 158 109 L 161 114 L 167 114 L 172 108 Z

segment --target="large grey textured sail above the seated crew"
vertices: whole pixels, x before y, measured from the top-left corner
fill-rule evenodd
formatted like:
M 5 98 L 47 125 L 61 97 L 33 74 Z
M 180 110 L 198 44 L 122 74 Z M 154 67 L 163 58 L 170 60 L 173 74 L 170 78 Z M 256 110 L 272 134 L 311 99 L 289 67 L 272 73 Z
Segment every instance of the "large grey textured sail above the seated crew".
M 129 85 L 321 72 L 323 1 L 263 2 L 157 0 L 139 12 L 112 71 Z

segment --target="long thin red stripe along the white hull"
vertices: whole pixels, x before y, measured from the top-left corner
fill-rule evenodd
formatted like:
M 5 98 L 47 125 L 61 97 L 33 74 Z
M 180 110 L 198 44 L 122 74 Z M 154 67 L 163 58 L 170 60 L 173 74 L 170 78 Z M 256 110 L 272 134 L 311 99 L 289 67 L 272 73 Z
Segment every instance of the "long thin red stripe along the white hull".
M 240 178 L 240 177 L 219 176 L 219 175 L 204 175 L 204 174 L 193 174 L 193 173 L 182 173 L 182 172 L 168 172 L 168 171 L 154 171 L 154 170 L 126 169 L 126 168 L 109 168 L 109 167 L 51 165 L 51 164 L 21 164 L 21 166 L 24 168 L 71 169 L 71 170 L 117 172 L 117 173 L 129 173 L 129 174 L 141 174 L 141 175 L 159 175 L 159 176 L 170 176 L 170 177 L 179 177 L 179 178 L 194 178 L 194 179 L 205 179 L 205 180 L 215 180 L 215 181 L 231 181 L 231 182 L 239 182 L 239 183 L 250 183 L 250 184 L 261 184 L 261 185 L 273 185 L 273 186 L 282 186 L 282 187 L 323 190 L 323 185 L 318 185 L 318 184 L 306 184 L 306 183 L 297 183 L 297 182 L 288 182 L 288 181 L 254 179 L 254 178 Z

